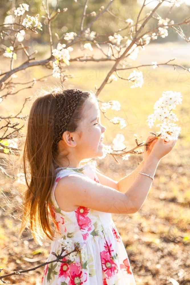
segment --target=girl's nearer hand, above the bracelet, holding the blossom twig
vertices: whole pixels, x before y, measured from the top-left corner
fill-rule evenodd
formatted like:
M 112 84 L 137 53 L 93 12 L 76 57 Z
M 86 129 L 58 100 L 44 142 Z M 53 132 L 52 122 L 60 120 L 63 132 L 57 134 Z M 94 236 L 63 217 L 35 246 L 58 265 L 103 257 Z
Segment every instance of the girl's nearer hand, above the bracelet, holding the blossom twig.
M 165 139 L 158 139 L 151 151 L 151 156 L 160 160 L 163 156 L 168 154 L 174 147 L 176 140 L 166 142 Z

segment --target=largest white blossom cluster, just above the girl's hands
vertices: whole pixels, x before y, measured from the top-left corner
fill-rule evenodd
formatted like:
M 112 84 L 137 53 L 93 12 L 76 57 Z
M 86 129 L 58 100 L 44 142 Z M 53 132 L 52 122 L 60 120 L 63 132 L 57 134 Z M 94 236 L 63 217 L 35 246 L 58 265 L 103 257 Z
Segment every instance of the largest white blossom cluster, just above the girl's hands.
M 148 116 L 148 125 L 151 128 L 155 121 L 158 121 L 156 127 L 160 127 L 161 138 L 165 141 L 177 140 L 181 128 L 175 123 L 178 118 L 173 109 L 176 105 L 181 104 L 182 97 L 180 92 L 166 91 L 162 97 L 154 104 L 154 114 Z

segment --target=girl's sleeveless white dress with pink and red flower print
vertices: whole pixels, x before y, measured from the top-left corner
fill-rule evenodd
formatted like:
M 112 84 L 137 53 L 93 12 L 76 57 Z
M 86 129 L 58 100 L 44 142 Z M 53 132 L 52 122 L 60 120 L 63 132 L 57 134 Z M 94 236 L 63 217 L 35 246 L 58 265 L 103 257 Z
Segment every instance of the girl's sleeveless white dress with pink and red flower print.
M 99 183 L 91 165 L 58 169 L 49 202 L 56 235 L 47 261 L 56 259 L 51 252 L 57 255 L 61 253 L 60 240 L 71 240 L 79 246 L 80 251 L 76 253 L 73 263 L 54 262 L 46 265 L 42 285 L 135 285 L 128 256 L 111 213 L 82 206 L 71 212 L 59 208 L 54 196 L 55 187 L 62 177 L 73 172 L 79 176 L 88 176 Z M 67 251 L 62 255 L 66 253 Z

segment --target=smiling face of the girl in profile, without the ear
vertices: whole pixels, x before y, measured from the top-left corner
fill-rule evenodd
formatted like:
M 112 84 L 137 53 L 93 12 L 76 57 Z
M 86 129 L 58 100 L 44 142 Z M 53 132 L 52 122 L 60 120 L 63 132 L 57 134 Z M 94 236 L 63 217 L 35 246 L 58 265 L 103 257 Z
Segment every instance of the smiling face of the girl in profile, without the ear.
M 103 155 L 103 133 L 106 128 L 100 123 L 100 110 L 96 99 L 86 100 L 83 108 L 83 119 L 79 123 L 77 132 L 77 153 L 82 159 Z

